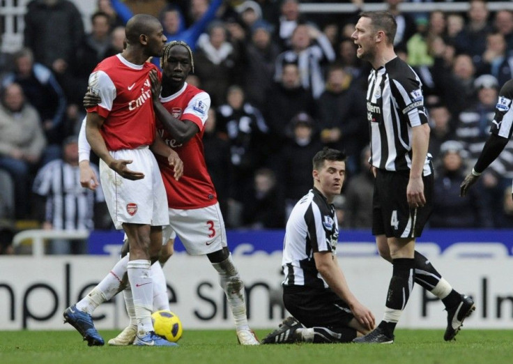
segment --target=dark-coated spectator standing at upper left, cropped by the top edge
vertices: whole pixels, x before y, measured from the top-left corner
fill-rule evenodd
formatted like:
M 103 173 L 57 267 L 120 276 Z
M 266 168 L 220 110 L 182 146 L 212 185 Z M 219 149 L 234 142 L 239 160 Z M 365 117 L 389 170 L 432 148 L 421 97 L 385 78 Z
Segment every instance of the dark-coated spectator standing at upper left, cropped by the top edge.
M 25 47 L 33 51 L 36 62 L 56 75 L 68 102 L 81 105 L 84 93 L 77 92 L 73 75 L 84 38 L 82 14 L 68 0 L 33 0 L 26 8 Z

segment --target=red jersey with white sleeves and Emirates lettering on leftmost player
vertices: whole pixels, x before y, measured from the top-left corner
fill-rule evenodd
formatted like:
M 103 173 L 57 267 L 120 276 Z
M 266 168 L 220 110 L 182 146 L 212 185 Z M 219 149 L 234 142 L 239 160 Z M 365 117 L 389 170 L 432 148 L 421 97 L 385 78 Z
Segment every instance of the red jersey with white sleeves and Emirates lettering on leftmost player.
M 89 76 L 89 87 L 102 102 L 87 111 L 98 112 L 105 118 L 100 132 L 109 151 L 153 143 L 151 70 L 157 70 L 152 63 L 135 65 L 117 54 L 98 63 Z

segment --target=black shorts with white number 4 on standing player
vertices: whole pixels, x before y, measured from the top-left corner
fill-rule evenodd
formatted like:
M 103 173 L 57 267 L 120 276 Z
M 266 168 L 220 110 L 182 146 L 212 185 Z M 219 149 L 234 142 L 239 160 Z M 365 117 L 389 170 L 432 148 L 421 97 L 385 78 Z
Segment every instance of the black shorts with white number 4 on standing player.
M 410 172 L 378 169 L 372 198 L 372 234 L 385 234 L 388 238 L 419 237 L 433 211 L 433 175 L 431 172 L 422 177 L 426 204 L 410 208 L 406 197 Z

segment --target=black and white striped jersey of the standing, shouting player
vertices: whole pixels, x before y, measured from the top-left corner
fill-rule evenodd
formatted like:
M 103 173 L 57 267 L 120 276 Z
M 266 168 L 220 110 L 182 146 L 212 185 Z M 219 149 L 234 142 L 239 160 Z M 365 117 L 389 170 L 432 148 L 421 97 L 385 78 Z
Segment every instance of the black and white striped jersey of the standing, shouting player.
M 415 71 L 396 57 L 372 70 L 367 88 L 367 120 L 371 162 L 388 171 L 411 169 L 412 128 L 427 123 L 422 82 Z M 424 176 L 431 174 L 428 154 Z

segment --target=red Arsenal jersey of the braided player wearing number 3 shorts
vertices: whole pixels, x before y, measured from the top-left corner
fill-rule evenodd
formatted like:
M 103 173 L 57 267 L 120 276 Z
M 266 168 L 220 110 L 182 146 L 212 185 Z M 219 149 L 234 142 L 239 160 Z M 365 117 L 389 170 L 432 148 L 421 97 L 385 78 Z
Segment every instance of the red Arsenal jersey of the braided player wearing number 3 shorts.
M 157 120 L 160 136 L 183 160 L 183 176 L 176 181 L 172 167 L 167 164 L 167 159 L 157 156 L 169 207 L 189 210 L 215 204 L 217 194 L 206 169 L 201 140 L 210 108 L 210 96 L 205 91 L 185 83 L 180 91 L 167 98 L 160 98 L 160 101 L 176 119 L 192 121 L 200 130 L 185 144 L 177 144 Z

